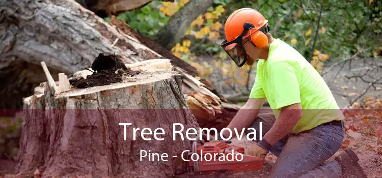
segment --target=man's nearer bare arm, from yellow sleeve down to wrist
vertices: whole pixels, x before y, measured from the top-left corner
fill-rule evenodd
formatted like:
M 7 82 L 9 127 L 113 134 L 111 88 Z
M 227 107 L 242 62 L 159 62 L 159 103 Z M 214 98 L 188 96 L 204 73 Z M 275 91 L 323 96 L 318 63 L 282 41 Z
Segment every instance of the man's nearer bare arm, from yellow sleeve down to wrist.
M 275 124 L 264 135 L 263 139 L 270 145 L 275 145 L 293 129 L 302 116 L 303 110 L 299 103 L 283 107 Z

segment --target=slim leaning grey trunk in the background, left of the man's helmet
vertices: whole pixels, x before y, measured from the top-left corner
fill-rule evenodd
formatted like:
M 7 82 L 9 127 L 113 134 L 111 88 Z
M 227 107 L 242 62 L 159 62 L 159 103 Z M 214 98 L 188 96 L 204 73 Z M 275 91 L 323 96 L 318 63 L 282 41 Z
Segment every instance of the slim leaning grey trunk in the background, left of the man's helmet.
M 191 0 L 177 11 L 156 34 L 155 41 L 170 50 L 184 36 L 189 25 L 213 4 L 213 0 Z

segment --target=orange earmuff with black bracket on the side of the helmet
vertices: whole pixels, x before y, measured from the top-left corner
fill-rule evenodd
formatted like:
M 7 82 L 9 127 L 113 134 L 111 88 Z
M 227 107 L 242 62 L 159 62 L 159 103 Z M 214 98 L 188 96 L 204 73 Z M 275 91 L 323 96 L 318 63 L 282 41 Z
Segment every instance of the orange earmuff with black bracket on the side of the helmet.
M 255 26 L 249 22 L 244 23 L 244 28 L 247 28 L 250 30 L 251 33 L 251 28 L 254 28 Z M 267 23 L 263 27 L 261 27 L 258 31 L 255 33 L 251 34 L 249 36 L 250 41 L 252 42 L 253 45 L 259 48 L 263 48 L 268 44 L 268 37 L 266 36 L 266 33 L 269 32 L 269 24 Z

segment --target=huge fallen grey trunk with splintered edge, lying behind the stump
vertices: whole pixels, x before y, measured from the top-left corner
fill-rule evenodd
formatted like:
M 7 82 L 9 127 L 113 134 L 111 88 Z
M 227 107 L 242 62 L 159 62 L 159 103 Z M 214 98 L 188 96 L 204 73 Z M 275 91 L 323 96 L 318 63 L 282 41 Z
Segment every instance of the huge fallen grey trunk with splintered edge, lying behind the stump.
M 208 112 L 208 121 L 220 118 L 221 114 L 214 112 L 224 115 L 232 111 L 223 107 L 225 98 L 210 83 L 196 78 L 198 73 L 193 66 L 153 40 L 135 33 L 115 17 L 107 23 L 73 0 L 1 1 L 0 6 L 4 7 L 0 18 L 5 29 L 0 31 L 3 37 L 0 39 L 0 79 L 4 83 L 0 88 L 0 97 L 4 98 L 1 108 L 22 108 L 22 98 L 33 95 L 34 88 L 46 81 L 41 62 L 46 64 L 53 79 L 59 81 L 59 73 L 70 77 L 89 68 L 94 58 L 104 53 L 118 54 L 126 64 L 168 58 L 173 70 L 182 75 L 186 101 L 197 102 L 196 108 L 203 110 L 215 109 Z M 192 99 L 195 96 L 199 101 Z M 213 101 L 200 105 L 203 97 Z M 196 115 L 198 121 L 206 120 L 203 114 Z M 232 114 L 224 118 L 224 123 L 218 123 L 228 125 Z

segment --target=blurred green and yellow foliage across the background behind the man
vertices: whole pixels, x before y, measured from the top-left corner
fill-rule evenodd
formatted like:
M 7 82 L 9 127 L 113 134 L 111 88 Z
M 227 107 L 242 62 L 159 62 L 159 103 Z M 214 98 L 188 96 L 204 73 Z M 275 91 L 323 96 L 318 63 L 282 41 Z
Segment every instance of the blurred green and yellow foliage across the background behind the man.
M 153 37 L 188 2 L 154 1 L 118 18 Z M 382 1 L 214 0 L 214 5 L 195 19 L 172 52 L 185 61 L 190 61 L 192 53 L 226 60 L 219 45 L 224 39 L 224 23 L 233 11 L 246 7 L 263 14 L 269 20 L 272 36 L 301 52 L 317 70 L 327 60 L 344 60 L 354 53 L 376 56 L 382 51 Z M 185 41 L 187 45 L 181 44 Z

